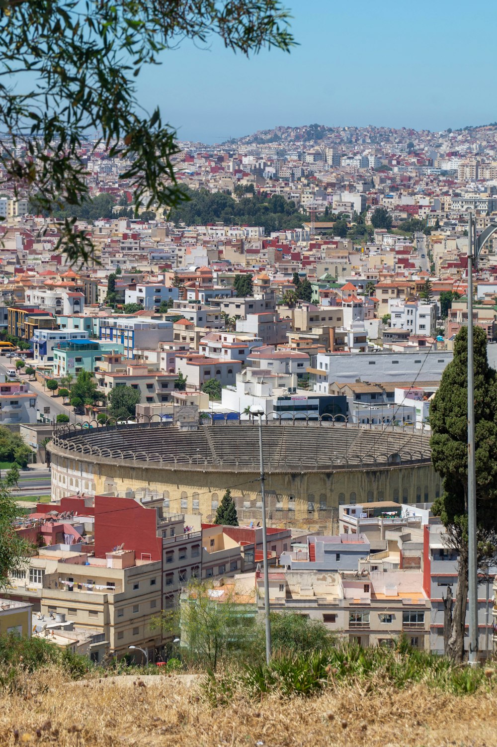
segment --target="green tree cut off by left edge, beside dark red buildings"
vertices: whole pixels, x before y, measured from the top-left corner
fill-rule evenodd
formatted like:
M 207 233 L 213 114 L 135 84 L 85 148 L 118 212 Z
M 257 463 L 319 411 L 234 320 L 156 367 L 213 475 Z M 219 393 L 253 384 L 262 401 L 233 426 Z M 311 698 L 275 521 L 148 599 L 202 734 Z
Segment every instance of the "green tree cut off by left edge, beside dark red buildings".
M 19 470 L 18 470 L 19 473 Z M 19 475 L 18 475 L 19 479 Z M 31 554 L 31 543 L 14 528 L 19 518 L 19 506 L 5 482 L 0 483 L 0 589 L 10 586 L 9 574 L 20 571 Z

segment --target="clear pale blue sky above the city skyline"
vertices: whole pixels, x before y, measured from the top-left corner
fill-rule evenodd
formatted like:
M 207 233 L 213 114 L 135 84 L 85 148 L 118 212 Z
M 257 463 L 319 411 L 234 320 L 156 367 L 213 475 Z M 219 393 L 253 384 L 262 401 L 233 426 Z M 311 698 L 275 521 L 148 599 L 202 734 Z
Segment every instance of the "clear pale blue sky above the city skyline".
M 286 0 L 290 55 L 247 59 L 214 37 L 144 69 L 138 99 L 181 140 L 220 143 L 278 125 L 443 130 L 497 120 L 489 0 Z

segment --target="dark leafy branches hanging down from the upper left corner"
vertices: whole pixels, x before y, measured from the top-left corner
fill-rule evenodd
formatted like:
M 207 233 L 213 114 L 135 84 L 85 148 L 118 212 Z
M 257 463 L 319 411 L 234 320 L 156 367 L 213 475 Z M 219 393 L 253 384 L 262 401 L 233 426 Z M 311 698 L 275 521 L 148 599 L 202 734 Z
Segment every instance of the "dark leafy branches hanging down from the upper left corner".
M 228 6 L 178 0 L 160 8 L 148 0 L 117 6 L 88 0 L 77 10 L 70 0 L 2 0 L 1 9 L 1 80 L 21 69 L 28 82 L 20 92 L 10 81 L 0 86 L 0 129 L 9 133 L 0 166 L 10 183 L 36 185 L 31 209 L 49 214 L 91 202 L 87 158 L 102 148 L 123 164 L 119 179 L 134 185 L 136 214 L 181 200 L 175 131 L 159 108 L 143 114 L 134 83 L 144 65 L 160 63 L 164 50 L 185 37 L 204 43 L 213 35 L 244 55 L 293 46 L 290 16 L 275 0 Z M 87 140 L 88 131 L 99 131 L 96 143 Z M 69 261 L 93 255 L 87 231 L 76 231 L 72 217 L 60 228 L 58 246 Z

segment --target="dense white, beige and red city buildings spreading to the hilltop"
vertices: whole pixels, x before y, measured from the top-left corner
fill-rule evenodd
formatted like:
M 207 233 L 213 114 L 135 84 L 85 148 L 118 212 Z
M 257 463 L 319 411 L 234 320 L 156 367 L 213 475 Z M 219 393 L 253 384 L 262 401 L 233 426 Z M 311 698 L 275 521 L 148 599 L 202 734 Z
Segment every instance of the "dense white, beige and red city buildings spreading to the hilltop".
M 187 208 L 168 219 L 153 206 L 130 217 L 122 163 L 89 143 L 90 196 L 113 205 L 99 220 L 78 218 L 98 262 L 69 267 L 55 250 L 57 220 L 31 214 L 28 195 L 14 194 L 0 167 L 0 336 L 16 348 L 11 357 L 0 351 L 0 422 L 16 433 L 30 426 L 38 462 L 57 415 L 88 438 L 79 456 L 54 451 L 52 502 L 19 521 L 37 552 L 10 578 L 0 630 L 50 636 L 96 661 L 130 645 L 153 658 L 164 641 L 151 619 L 187 595 L 191 578 L 243 575 L 254 614 L 268 594 L 272 609 L 319 619 L 361 645 L 391 645 L 404 633 L 416 648 L 442 652 L 457 556 L 430 512 L 443 488 L 428 464 L 429 406 L 468 323 L 468 213 L 478 232 L 497 220 L 497 127 L 281 127 L 180 147 L 178 181 L 194 197 L 222 193 L 234 207 L 257 198 L 266 217 L 188 222 Z M 475 271 L 472 320 L 487 335 L 491 365 L 496 249 L 491 240 Z M 22 373 L 28 367 L 35 373 Z M 100 400 L 75 408 L 46 389 L 55 379 L 70 391 L 82 373 Z M 92 428 L 120 387 L 136 400 L 134 412 L 116 416 L 134 429 L 134 450 L 118 433 L 108 453 L 93 452 Z M 254 405 L 274 442 L 281 437 L 268 468 L 284 473 L 269 491 L 268 557 L 257 487 L 234 496 L 240 527 L 213 524 L 230 487 L 216 474 L 229 459 L 228 471 L 241 469 L 235 433 L 248 433 L 240 429 Z M 174 455 L 143 435 L 150 422 L 178 429 Z M 231 454 L 207 424 L 234 429 Z M 297 444 L 298 424 L 311 436 L 295 432 Z M 359 436 L 319 439 L 313 426 Z M 378 480 L 375 434 L 387 457 Z M 192 452 L 194 438 L 203 440 Z M 319 441 L 330 450 L 313 477 Z M 178 470 L 182 460 L 192 473 L 203 467 L 199 483 L 190 475 L 191 484 L 161 486 L 137 465 L 162 467 L 169 457 Z M 342 477 L 334 459 L 349 460 Z M 293 475 L 300 486 L 290 486 Z M 494 571 L 479 587 L 483 656 L 494 648 Z

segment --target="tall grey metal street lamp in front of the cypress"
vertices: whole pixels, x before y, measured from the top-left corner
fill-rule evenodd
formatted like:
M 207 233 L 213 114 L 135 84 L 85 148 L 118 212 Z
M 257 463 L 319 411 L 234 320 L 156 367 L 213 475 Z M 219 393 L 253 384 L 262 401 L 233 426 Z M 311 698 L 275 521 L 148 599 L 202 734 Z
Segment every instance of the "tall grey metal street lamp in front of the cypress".
M 484 244 L 497 231 L 497 224 L 476 235 L 476 223 L 468 214 L 468 598 L 469 663 L 478 654 L 478 557 L 476 542 L 476 468 L 475 468 L 475 374 L 473 371 L 473 263 Z

